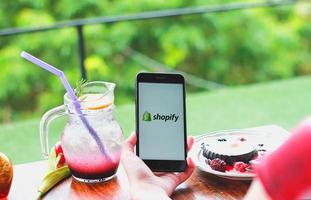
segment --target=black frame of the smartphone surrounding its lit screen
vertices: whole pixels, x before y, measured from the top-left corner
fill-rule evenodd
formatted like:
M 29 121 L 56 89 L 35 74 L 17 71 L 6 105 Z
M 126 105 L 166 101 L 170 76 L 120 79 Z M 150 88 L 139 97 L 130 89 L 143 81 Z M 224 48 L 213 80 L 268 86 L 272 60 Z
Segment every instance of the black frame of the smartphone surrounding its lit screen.
M 136 154 L 139 156 L 139 83 L 175 83 L 183 86 L 183 115 L 184 115 L 184 160 L 144 160 L 146 165 L 157 172 L 182 172 L 187 168 L 187 126 L 186 126 L 186 91 L 185 80 L 181 74 L 171 73 L 139 73 L 136 77 Z

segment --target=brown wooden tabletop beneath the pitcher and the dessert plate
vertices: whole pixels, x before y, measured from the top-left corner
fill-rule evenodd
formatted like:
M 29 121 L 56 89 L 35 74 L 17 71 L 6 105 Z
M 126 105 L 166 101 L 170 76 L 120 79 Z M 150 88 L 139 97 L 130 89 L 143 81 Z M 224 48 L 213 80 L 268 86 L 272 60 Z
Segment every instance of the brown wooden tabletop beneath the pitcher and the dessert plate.
M 9 200 L 35 199 L 36 191 L 46 169 L 46 162 L 39 161 L 14 166 L 14 178 Z M 172 199 L 242 199 L 250 181 L 218 178 L 196 170 L 181 184 Z M 130 199 L 129 183 L 122 166 L 117 176 L 100 184 L 83 184 L 68 178 L 54 187 L 43 199 Z

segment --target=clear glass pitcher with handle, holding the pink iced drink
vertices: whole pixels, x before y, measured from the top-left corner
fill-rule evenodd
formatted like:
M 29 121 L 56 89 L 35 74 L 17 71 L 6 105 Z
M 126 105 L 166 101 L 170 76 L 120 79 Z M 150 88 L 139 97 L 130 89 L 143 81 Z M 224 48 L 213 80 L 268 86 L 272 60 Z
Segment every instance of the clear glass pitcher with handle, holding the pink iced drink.
M 92 137 L 82 123 L 81 114 L 76 112 L 67 93 L 64 95 L 64 105 L 49 110 L 41 119 L 41 148 L 44 157 L 48 157 L 48 126 L 52 120 L 68 116 L 61 145 L 72 176 L 80 182 L 110 180 L 119 166 L 123 134 L 113 115 L 114 88 L 114 83 L 89 82 L 83 86 L 79 96 L 82 115 L 95 130 L 98 140 Z M 99 143 L 105 152 L 101 151 Z

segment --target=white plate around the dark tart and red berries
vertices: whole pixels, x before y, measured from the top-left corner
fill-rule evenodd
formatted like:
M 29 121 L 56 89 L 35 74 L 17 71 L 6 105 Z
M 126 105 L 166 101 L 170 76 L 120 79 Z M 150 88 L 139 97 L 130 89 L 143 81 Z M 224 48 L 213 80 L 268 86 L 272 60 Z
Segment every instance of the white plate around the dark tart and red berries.
M 216 131 L 211 133 L 206 133 L 195 138 L 194 145 L 189 152 L 189 155 L 197 165 L 197 167 L 207 173 L 214 174 L 216 176 L 233 179 L 233 180 L 251 180 L 255 177 L 252 173 L 238 173 L 238 172 L 219 172 L 213 170 L 207 163 L 206 158 L 202 155 L 201 145 L 203 142 L 207 142 L 209 139 L 219 138 L 221 136 L 230 137 L 244 137 L 252 145 L 256 146 L 258 149 L 266 150 L 266 153 L 272 152 L 278 146 L 280 146 L 286 138 L 289 136 L 289 132 L 277 125 L 267 125 L 247 129 L 234 129 L 234 130 L 224 130 Z M 263 144 L 263 146 L 262 146 Z

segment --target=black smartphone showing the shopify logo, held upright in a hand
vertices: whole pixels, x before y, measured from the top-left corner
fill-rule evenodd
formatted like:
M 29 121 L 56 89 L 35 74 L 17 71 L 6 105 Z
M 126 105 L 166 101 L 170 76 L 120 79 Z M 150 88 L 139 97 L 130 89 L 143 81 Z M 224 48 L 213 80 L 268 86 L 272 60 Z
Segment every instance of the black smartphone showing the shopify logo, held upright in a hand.
M 187 168 L 185 80 L 180 74 L 136 77 L 136 154 L 157 172 Z

